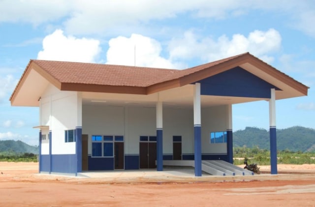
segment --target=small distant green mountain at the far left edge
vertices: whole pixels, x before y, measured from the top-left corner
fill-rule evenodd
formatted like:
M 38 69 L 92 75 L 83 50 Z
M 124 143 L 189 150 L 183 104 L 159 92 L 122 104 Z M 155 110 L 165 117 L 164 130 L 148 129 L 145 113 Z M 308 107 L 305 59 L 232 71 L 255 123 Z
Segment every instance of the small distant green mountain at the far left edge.
M 17 154 L 26 152 L 38 154 L 38 147 L 30 146 L 20 140 L 0 140 L 0 154 Z

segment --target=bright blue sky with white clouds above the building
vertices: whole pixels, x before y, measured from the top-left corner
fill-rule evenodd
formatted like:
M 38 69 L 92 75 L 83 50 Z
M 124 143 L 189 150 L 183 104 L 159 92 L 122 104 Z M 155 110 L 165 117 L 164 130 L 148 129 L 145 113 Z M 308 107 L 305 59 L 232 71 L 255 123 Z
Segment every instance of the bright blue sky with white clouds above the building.
M 9 97 L 30 59 L 183 69 L 250 52 L 310 87 L 276 101 L 277 128 L 315 128 L 313 0 L 0 0 L 0 140 L 38 144 L 38 108 Z M 266 101 L 233 105 L 233 130 L 269 129 Z

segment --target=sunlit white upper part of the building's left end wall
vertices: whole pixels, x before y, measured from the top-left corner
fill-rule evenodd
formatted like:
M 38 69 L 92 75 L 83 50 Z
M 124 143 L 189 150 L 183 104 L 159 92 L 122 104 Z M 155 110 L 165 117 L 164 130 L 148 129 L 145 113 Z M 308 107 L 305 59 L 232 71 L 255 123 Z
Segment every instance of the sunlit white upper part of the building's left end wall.
M 64 142 L 64 130 L 81 126 L 81 103 L 78 92 L 60 91 L 53 85 L 41 96 L 40 125 L 52 131 L 52 154 L 75 154 L 75 142 Z

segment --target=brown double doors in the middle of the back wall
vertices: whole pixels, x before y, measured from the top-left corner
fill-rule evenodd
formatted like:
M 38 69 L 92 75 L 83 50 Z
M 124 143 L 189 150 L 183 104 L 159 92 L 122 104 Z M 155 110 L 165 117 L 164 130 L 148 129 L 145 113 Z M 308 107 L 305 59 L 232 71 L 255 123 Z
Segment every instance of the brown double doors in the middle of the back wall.
M 141 136 L 139 149 L 140 169 L 157 168 L 157 137 Z

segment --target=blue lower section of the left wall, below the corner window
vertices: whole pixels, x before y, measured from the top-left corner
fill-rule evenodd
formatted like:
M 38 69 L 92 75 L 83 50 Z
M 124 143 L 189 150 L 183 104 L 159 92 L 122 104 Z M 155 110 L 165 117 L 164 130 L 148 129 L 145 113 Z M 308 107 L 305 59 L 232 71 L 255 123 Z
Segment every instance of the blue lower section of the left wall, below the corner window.
M 52 173 L 77 173 L 76 154 L 52 154 L 51 161 Z

